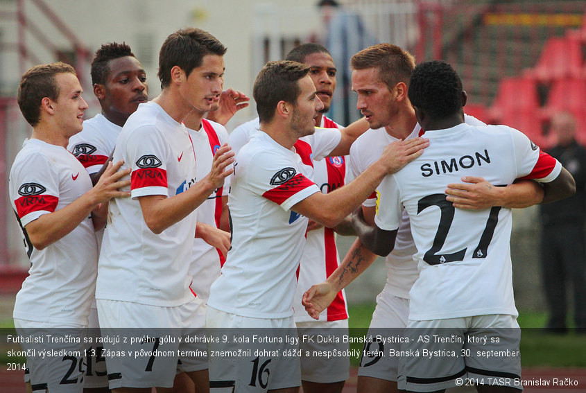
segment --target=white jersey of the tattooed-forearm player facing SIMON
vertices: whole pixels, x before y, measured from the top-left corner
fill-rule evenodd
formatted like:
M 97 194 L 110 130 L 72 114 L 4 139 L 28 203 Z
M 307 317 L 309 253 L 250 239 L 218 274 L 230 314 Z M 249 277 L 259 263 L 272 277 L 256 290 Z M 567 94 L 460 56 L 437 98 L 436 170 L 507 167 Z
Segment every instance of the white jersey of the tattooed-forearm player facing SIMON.
M 485 125 L 474 116 L 468 115 L 465 116 L 465 122 L 469 125 Z M 406 139 L 416 138 L 420 136 L 420 133 L 421 127 L 417 123 Z M 397 138 L 390 136 L 384 128 L 377 130 L 372 130 L 371 128 L 358 137 L 350 148 L 352 175 L 356 177 L 363 173 L 370 164 L 381 157 L 384 148 L 388 144 L 397 140 Z M 376 193 L 370 195 L 370 198 L 363 203 L 365 207 L 376 207 L 376 205 Z M 407 211 L 403 211 L 403 218 L 395 240 L 395 248 L 385 259 L 387 277 L 383 292 L 403 299 L 409 298 L 409 290 L 411 290 L 411 286 L 419 276 L 417 263 L 413 261 L 415 252 L 417 252 L 417 248 L 413 242 L 413 235 L 411 235 L 409 215 Z

